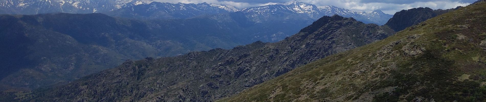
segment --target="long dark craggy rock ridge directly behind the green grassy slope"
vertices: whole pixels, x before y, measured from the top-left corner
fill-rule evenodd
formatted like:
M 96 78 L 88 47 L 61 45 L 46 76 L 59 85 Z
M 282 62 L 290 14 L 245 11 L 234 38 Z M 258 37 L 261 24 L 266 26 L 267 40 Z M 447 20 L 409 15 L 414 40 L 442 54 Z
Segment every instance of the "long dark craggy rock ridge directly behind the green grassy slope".
M 20 100 L 210 102 L 314 60 L 386 38 L 390 30 L 352 18 L 324 16 L 277 43 L 128 60 L 65 86 L 35 90 Z

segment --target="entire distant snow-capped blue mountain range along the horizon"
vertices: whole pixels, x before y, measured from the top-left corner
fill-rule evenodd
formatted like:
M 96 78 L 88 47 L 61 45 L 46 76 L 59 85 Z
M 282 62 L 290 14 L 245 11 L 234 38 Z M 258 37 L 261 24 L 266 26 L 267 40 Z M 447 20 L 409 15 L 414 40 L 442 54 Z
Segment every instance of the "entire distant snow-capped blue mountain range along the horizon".
M 241 12 L 252 16 L 305 15 L 313 19 L 322 16 L 341 15 L 353 17 L 364 23 L 385 24 L 393 15 L 377 10 L 373 12 L 350 11 L 335 6 L 316 6 L 300 1 L 289 1 L 274 5 L 244 8 L 225 4 L 185 4 L 154 2 L 153 0 L 0 0 L 0 14 L 45 14 L 45 13 L 104 13 L 112 16 L 133 18 L 190 18 L 198 15 L 213 15 Z

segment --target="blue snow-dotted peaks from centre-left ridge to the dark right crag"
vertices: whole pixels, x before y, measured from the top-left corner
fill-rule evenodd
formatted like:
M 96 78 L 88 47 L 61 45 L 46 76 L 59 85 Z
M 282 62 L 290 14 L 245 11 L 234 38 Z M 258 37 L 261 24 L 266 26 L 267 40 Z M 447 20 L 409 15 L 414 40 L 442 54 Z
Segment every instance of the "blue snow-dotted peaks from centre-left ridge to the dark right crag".
M 258 23 L 265 19 L 273 19 L 268 17 L 271 15 L 287 16 L 300 15 L 307 16 L 313 20 L 319 19 L 322 16 L 341 15 L 344 17 L 353 17 L 358 21 L 364 23 L 375 23 L 384 25 L 388 19 L 393 15 L 388 15 L 380 10 L 372 12 L 350 11 L 348 9 L 339 8 L 336 6 L 316 6 L 310 3 L 300 2 L 297 0 L 278 3 L 274 5 L 266 5 L 259 7 L 244 8 L 238 10 L 237 8 L 224 4 L 184 4 L 184 3 L 160 3 L 153 2 L 151 4 L 141 4 L 127 8 L 121 8 L 112 12 L 105 13 L 111 16 L 121 16 L 129 18 L 149 18 L 149 19 L 172 19 L 172 18 L 190 18 L 198 15 L 213 15 L 225 13 L 241 13 L 245 16 L 250 16 L 252 21 Z M 275 18 L 275 17 L 274 17 Z

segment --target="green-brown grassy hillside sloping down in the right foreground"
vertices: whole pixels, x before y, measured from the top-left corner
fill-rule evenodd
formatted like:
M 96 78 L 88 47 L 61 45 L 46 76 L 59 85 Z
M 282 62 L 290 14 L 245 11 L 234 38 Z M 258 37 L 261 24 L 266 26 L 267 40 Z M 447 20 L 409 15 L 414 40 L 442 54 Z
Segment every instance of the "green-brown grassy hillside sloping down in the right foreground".
M 472 4 L 218 102 L 485 102 L 485 14 Z

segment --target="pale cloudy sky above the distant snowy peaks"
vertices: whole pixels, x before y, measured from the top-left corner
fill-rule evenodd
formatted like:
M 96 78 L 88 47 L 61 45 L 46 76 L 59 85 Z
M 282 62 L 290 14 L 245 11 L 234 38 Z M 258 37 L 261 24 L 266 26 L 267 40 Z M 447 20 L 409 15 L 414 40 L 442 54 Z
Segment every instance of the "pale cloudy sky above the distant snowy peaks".
M 264 6 L 293 0 L 154 0 L 157 2 L 171 3 L 215 3 L 235 6 L 239 9 Z M 467 6 L 477 0 L 299 0 L 315 4 L 317 6 L 337 6 L 353 11 L 382 10 L 386 14 L 395 14 L 401 10 L 417 7 L 429 7 L 432 9 L 450 9 L 457 6 Z

